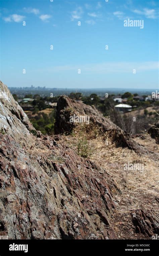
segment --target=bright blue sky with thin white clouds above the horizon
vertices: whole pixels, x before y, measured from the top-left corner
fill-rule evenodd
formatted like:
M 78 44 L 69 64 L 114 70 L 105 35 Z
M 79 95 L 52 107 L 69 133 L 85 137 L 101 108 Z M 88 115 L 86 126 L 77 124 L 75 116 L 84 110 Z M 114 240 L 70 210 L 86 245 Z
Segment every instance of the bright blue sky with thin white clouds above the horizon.
M 0 79 L 9 87 L 158 89 L 158 7 L 158 0 L 0 0 Z M 144 28 L 124 27 L 128 19 Z

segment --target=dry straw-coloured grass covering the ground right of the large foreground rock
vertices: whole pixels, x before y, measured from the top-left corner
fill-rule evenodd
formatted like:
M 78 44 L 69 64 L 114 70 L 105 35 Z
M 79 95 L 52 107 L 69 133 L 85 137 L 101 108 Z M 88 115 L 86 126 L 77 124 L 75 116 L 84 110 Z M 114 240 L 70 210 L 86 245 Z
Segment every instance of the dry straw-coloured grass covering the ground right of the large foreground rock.
M 87 127 L 86 127 L 87 128 Z M 77 150 L 79 131 L 85 134 L 89 140 L 91 155 L 89 158 L 104 167 L 113 179 L 118 183 L 122 195 L 114 195 L 119 202 L 119 207 L 113 211 L 111 225 L 120 239 L 145 239 L 144 235 L 136 234 L 132 223 L 131 213 L 133 210 L 144 207 L 157 215 L 158 204 L 156 197 L 159 194 L 159 161 L 158 156 L 138 155 L 128 148 L 118 147 L 111 142 L 108 133 L 101 133 L 97 127 L 87 132 L 85 126 L 77 126 L 73 137 L 64 137 L 65 143 L 73 150 Z M 136 138 L 136 142 L 145 146 L 149 151 L 156 154 L 159 149 L 155 140 L 150 135 L 145 135 L 145 139 Z M 153 153 L 152 153 L 153 154 Z M 154 155 L 155 156 L 155 155 Z M 125 170 L 124 164 L 143 164 L 142 170 Z

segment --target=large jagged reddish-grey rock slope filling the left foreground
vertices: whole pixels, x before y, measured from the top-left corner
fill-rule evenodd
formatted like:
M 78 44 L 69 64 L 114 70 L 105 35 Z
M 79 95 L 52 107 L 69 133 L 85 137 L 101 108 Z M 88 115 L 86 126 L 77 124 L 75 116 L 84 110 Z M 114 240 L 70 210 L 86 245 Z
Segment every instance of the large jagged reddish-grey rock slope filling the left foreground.
M 113 194 L 120 193 L 113 177 L 53 137 L 33 135 L 29 119 L 3 83 L 0 91 L 8 92 L 0 99 L 0 235 L 117 239 L 109 220 L 118 204 Z M 60 101 L 58 109 L 63 109 Z

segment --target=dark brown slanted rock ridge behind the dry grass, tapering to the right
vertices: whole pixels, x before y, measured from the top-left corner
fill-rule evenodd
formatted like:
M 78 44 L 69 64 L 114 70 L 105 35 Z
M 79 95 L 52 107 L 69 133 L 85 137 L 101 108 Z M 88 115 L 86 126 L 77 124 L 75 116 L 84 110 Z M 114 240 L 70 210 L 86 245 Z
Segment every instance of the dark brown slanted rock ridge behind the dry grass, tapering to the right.
M 89 116 L 90 123 L 100 127 L 102 133 L 108 132 L 112 142 L 116 146 L 127 147 L 134 150 L 138 154 L 149 154 L 148 150 L 135 142 L 128 133 L 121 130 L 109 118 L 103 115 L 94 107 L 86 105 L 82 102 L 76 102 L 66 96 L 61 96 L 57 103 L 55 134 L 71 133 L 75 127 L 75 123 L 70 122 L 70 116 Z

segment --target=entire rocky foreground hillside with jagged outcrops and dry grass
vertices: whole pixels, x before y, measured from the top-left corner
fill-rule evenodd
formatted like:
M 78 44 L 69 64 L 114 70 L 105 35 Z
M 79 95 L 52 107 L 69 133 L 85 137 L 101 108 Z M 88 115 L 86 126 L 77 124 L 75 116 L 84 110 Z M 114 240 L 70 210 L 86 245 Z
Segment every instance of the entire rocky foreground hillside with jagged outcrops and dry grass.
M 0 91 L 8 95 L 0 99 L 0 235 L 151 239 L 158 233 L 155 139 L 133 139 L 95 107 L 66 96 L 58 100 L 56 135 L 43 135 L 2 82 Z M 70 123 L 70 115 L 88 115 L 90 123 Z M 128 162 L 143 164 L 143 172 L 124 170 Z

